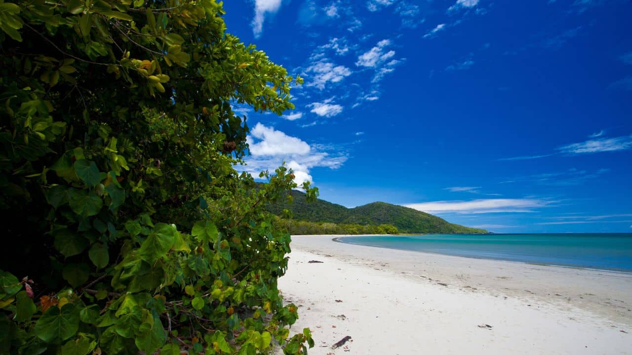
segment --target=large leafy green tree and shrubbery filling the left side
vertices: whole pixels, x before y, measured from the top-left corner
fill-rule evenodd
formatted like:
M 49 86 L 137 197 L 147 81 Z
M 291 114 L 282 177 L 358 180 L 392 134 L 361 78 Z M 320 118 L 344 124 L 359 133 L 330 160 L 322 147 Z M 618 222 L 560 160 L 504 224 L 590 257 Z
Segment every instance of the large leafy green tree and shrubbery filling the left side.
M 211 0 L 0 0 L 0 354 L 180 347 L 255 354 L 289 337 L 289 234 L 233 105 L 293 109 L 288 76 Z M 310 197 L 317 190 L 303 186 Z

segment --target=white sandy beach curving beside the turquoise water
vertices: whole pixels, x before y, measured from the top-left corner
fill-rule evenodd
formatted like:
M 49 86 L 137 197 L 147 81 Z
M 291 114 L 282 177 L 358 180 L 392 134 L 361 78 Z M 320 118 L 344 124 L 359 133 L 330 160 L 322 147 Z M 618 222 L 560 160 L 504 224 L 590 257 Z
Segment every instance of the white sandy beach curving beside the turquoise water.
M 336 237 L 293 236 L 279 279 L 299 306 L 291 330 L 312 330 L 310 354 L 632 354 L 631 274 Z

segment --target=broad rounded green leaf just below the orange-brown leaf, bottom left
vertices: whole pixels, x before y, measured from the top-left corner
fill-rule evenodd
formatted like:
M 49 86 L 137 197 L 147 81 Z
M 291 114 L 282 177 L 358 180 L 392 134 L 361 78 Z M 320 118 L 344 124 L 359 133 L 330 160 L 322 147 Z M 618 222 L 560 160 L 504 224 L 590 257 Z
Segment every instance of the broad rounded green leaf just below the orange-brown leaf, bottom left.
M 52 306 L 37 323 L 35 335 L 45 342 L 60 342 L 66 340 L 79 329 L 79 310 L 72 303 L 66 303 L 61 310 Z

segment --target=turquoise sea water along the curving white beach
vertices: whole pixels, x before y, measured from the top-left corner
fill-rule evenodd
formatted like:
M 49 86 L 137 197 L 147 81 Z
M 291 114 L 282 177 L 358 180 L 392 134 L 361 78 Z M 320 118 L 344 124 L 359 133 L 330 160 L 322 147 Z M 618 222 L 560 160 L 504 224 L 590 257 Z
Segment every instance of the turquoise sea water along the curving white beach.
M 425 234 L 337 240 L 470 258 L 632 272 L 632 233 Z

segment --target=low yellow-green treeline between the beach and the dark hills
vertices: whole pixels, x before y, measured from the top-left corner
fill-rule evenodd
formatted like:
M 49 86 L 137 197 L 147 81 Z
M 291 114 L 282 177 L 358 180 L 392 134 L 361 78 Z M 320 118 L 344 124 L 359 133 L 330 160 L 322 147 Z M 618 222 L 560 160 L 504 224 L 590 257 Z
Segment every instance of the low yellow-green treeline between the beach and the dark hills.
M 306 222 L 305 220 L 277 219 L 278 227 L 289 234 L 398 234 L 398 228 L 391 224 L 339 224 L 332 222 Z

